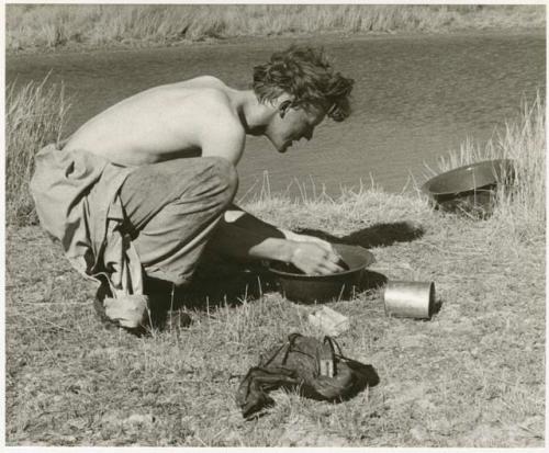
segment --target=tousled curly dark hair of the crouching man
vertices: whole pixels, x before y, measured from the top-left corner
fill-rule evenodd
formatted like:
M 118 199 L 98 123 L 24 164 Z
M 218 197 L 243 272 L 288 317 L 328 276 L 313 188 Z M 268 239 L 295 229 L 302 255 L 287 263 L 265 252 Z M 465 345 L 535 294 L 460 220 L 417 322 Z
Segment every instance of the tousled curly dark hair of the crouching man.
M 292 95 L 292 105 L 320 105 L 334 121 L 350 114 L 352 79 L 334 72 L 323 49 L 291 46 L 272 54 L 270 61 L 254 68 L 254 92 L 260 102 L 272 101 L 282 92 Z

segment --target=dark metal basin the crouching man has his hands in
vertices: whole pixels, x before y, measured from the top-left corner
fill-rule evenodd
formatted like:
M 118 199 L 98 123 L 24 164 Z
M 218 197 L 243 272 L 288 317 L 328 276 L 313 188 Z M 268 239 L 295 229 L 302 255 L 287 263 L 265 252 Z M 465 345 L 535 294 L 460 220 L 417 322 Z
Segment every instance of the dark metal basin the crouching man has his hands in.
M 305 304 L 347 298 L 358 286 L 362 271 L 376 259 L 362 247 L 335 244 L 348 270 L 329 275 L 307 275 L 283 262 L 273 262 L 270 271 L 276 275 L 284 296 Z

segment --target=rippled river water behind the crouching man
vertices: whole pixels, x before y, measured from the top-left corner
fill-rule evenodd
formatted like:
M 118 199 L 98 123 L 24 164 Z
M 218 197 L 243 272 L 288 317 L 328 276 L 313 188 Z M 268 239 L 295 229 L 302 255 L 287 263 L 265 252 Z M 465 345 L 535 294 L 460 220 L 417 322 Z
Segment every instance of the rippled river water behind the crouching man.
M 337 70 L 356 80 L 352 115 L 324 122 L 310 143 L 279 155 L 250 137 L 239 163 L 239 196 L 257 192 L 268 172 L 271 191 L 309 194 L 322 188 L 373 180 L 400 192 L 410 175 L 425 180 L 425 165 L 459 149 L 467 138 L 484 143 L 516 117 L 524 99 L 545 95 L 542 34 L 367 36 L 237 39 L 153 49 L 8 56 L 7 82 L 65 83 L 71 100 L 66 134 L 109 105 L 156 84 L 213 75 L 246 89 L 254 65 L 292 43 L 323 45 Z

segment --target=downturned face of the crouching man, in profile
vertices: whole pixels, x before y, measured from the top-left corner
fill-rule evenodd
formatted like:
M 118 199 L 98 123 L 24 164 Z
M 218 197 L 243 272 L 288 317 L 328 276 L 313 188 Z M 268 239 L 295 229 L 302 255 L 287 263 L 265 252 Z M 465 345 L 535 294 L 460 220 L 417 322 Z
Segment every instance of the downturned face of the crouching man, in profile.
M 326 113 L 320 106 L 281 105 L 266 135 L 279 152 L 285 152 L 294 141 L 310 140 L 314 128 L 322 123 Z

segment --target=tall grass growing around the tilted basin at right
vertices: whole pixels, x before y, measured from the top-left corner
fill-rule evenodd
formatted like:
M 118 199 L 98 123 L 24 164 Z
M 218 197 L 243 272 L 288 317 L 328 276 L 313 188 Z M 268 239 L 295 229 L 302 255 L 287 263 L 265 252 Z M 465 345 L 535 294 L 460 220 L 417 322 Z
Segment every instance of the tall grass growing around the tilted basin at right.
M 495 138 L 483 147 L 471 140 L 458 151 L 442 157 L 441 171 L 491 159 L 513 159 L 513 184 L 500 185 L 495 217 L 513 224 L 527 238 L 541 235 L 546 227 L 546 107 L 538 92 L 530 103 L 524 101 L 522 112 L 508 121 Z

